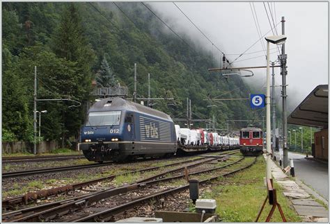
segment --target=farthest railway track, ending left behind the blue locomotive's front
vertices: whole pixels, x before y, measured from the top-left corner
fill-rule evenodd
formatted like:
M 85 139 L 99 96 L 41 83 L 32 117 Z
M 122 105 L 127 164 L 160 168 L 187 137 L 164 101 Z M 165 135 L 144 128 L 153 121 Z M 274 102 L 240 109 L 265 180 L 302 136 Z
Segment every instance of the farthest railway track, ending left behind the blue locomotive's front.
M 84 158 L 84 155 L 36 155 L 36 156 L 19 156 L 19 157 L 2 157 L 3 163 L 9 162 L 45 162 L 74 160 Z

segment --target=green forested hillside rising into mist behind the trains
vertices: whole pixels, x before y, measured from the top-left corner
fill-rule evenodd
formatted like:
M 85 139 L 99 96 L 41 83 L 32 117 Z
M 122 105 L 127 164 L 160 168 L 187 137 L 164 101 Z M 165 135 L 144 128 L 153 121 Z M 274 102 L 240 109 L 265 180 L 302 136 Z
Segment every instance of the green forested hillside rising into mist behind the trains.
M 173 118 L 185 117 L 187 97 L 193 117 L 208 119 L 215 114 L 217 128 L 226 128 L 227 119 L 257 117 L 247 101 L 203 101 L 231 90 L 221 97 L 246 98 L 250 89 L 239 77 L 226 80 L 208 72 L 215 64 L 212 54 L 187 35 L 182 37 L 189 46 L 182 42 L 141 3 L 118 3 L 130 20 L 113 3 L 93 6 L 82 2 L 3 3 L 3 141 L 33 139 L 34 66 L 38 67 L 38 98 L 70 97 L 82 103 L 68 107 L 72 103 L 38 102 L 37 110 L 47 110 L 42 114 L 42 136 L 63 143 L 76 139 L 87 102 L 93 100 L 92 80 L 104 59 L 130 94 L 137 63 L 139 97 L 148 96 L 150 73 L 151 96 L 175 98 L 175 107 L 157 101 L 154 108 Z M 210 104 L 219 106 L 207 107 Z

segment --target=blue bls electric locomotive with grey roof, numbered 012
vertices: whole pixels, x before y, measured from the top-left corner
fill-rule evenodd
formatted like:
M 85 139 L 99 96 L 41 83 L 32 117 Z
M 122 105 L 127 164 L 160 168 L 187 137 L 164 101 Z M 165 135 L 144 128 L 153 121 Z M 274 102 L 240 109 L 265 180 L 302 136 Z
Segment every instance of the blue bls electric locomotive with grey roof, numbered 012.
M 91 107 L 79 143 L 96 162 L 173 155 L 176 148 L 171 117 L 123 98 L 104 98 Z

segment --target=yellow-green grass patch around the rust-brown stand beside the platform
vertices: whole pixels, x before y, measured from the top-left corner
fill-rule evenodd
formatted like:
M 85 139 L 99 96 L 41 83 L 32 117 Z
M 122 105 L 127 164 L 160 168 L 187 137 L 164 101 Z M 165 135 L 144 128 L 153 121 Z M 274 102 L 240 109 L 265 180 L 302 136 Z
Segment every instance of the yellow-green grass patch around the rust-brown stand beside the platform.
M 220 178 L 217 187 L 207 191 L 202 198 L 217 200 L 217 214 L 223 222 L 254 222 L 267 191 L 264 185 L 266 162 L 259 157 L 256 164 L 230 178 Z M 281 187 L 275 182 L 278 203 L 281 204 L 288 222 L 300 222 L 301 218 L 291 206 L 290 201 L 283 196 Z M 260 222 L 265 222 L 271 209 L 267 202 Z M 271 222 L 282 222 L 276 208 Z

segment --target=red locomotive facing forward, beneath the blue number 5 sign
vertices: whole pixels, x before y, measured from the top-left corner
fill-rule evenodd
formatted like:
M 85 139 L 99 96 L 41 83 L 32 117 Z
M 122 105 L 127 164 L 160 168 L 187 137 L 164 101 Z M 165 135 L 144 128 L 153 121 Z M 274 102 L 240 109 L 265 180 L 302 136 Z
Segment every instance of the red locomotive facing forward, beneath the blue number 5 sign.
M 239 146 L 243 155 L 262 154 L 262 130 L 261 128 L 242 128 L 239 137 Z

